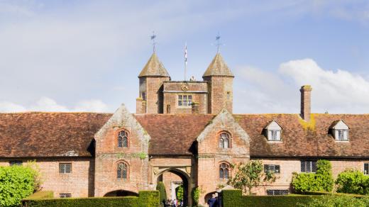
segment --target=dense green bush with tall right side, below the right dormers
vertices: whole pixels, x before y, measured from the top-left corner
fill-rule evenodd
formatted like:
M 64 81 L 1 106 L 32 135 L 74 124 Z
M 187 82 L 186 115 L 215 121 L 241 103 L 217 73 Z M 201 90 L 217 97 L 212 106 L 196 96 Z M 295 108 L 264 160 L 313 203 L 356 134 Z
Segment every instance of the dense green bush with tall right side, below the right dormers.
M 292 186 L 297 193 L 304 193 L 305 191 L 332 191 L 334 179 L 332 176 L 331 162 L 328 160 L 318 160 L 316 163 L 316 173 L 294 173 Z

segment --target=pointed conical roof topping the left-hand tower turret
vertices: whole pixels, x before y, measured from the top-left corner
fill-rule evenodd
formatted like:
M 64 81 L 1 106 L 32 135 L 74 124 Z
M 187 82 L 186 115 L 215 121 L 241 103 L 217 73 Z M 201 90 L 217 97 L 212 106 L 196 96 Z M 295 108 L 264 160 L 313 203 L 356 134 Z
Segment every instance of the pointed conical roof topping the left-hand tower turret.
M 147 77 L 147 76 L 155 76 L 155 77 L 170 77 L 164 65 L 158 59 L 158 56 L 154 52 L 151 55 L 148 63 L 146 63 L 145 67 L 141 70 L 138 77 Z

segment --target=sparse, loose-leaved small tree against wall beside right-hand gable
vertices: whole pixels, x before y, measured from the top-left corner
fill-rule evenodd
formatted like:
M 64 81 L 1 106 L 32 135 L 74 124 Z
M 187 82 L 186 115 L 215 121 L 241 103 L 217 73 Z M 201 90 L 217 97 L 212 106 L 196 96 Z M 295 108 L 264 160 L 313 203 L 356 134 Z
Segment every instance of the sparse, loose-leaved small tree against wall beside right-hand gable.
M 250 160 L 246 164 L 238 164 L 234 177 L 228 179 L 228 184 L 241 189 L 243 194 L 251 194 L 253 187 L 262 182 L 274 182 L 275 176 L 271 172 L 263 172 L 263 163 L 260 160 Z

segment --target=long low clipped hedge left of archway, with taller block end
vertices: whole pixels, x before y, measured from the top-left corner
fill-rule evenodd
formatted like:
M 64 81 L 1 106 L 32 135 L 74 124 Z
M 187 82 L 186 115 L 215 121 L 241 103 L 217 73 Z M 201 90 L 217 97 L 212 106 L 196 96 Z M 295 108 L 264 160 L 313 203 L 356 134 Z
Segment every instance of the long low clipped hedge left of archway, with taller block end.
M 56 207 L 74 207 L 74 206 L 159 206 L 159 191 L 139 191 L 138 197 L 92 197 L 92 198 L 34 198 L 23 200 L 23 206 L 56 206 Z

